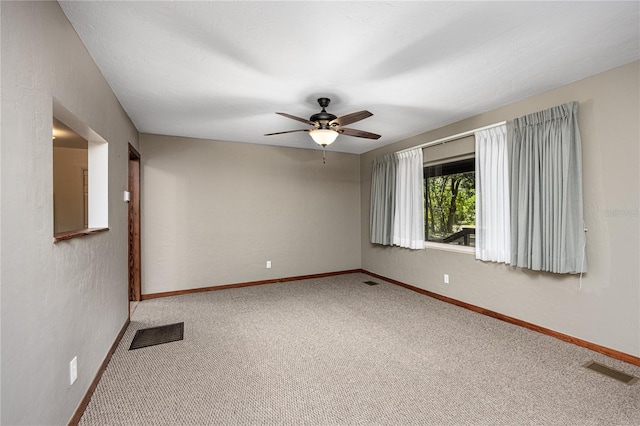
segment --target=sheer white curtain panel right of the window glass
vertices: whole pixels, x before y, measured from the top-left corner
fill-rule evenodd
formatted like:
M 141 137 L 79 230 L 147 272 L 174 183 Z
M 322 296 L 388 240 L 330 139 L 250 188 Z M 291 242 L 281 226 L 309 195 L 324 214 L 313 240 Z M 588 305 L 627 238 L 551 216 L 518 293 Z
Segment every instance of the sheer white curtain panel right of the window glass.
M 511 215 L 507 126 L 476 137 L 476 259 L 509 263 Z

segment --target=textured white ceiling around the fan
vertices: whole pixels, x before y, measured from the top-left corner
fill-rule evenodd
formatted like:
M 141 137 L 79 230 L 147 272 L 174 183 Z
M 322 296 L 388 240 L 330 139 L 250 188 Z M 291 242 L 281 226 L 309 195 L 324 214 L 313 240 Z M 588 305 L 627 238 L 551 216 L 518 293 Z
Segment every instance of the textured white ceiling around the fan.
M 60 2 L 140 132 L 363 153 L 640 58 L 630 2 Z

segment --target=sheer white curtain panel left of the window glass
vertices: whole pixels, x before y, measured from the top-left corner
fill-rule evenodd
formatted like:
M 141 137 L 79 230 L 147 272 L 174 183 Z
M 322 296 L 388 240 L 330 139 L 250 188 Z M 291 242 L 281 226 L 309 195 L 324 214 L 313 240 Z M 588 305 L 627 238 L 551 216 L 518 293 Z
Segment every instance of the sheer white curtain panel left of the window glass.
M 396 153 L 396 199 L 393 244 L 424 249 L 424 187 L 422 149 Z

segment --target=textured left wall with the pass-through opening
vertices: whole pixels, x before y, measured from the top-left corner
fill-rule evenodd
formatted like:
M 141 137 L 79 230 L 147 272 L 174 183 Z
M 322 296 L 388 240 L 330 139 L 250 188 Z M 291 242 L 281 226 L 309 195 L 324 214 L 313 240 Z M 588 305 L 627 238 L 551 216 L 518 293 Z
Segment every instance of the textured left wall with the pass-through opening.
M 138 134 L 57 2 L 1 2 L 2 424 L 65 424 L 127 319 Z M 53 98 L 109 142 L 109 231 L 53 243 Z M 78 381 L 69 362 L 78 357 Z

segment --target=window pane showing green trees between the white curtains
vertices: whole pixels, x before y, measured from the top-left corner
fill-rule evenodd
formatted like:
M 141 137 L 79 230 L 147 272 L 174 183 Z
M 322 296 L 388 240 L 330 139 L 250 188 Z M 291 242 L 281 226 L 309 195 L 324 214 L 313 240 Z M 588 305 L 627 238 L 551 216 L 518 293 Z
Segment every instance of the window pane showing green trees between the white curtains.
M 475 246 L 475 159 L 424 168 L 425 240 Z

